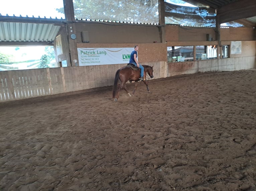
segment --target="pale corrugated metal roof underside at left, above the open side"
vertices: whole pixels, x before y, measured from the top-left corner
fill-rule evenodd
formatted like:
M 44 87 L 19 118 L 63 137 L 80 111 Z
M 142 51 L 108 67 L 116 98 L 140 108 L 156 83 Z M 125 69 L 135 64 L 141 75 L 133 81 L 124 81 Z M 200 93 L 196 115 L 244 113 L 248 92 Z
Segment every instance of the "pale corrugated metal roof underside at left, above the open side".
M 53 41 L 59 29 L 54 24 L 0 22 L 0 41 Z

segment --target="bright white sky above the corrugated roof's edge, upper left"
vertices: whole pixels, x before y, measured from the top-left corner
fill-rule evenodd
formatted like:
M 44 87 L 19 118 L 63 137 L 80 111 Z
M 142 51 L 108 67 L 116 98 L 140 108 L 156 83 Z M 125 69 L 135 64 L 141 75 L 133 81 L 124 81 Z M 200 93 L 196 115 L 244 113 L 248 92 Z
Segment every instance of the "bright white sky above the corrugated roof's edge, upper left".
M 46 17 L 64 19 L 65 15 L 58 13 L 55 8 L 63 7 L 63 0 L 0 0 L 0 13 L 3 16 Z

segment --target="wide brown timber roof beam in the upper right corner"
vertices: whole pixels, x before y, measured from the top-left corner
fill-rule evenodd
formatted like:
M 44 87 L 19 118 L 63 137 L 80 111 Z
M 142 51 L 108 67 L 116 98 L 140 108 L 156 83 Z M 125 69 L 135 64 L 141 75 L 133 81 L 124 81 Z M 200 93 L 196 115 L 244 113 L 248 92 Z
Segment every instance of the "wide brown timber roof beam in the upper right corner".
M 255 0 L 239 0 L 217 9 L 220 23 L 256 16 Z

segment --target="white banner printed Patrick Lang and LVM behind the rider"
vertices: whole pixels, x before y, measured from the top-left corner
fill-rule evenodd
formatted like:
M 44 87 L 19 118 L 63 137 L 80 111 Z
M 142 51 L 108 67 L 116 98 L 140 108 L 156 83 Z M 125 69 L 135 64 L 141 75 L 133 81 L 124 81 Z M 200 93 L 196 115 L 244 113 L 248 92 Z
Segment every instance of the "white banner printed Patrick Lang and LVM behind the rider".
M 77 48 L 79 66 L 129 63 L 134 48 Z

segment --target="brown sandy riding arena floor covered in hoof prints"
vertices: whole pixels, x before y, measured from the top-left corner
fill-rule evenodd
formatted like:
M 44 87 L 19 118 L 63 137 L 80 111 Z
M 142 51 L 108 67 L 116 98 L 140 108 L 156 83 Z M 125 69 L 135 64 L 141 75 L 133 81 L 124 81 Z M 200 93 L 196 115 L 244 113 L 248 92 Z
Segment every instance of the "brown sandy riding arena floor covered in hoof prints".
M 149 88 L 0 103 L 0 190 L 256 190 L 256 70 Z

